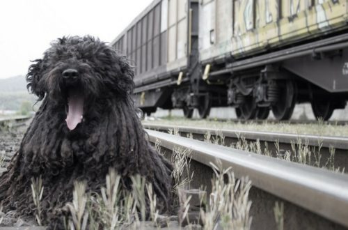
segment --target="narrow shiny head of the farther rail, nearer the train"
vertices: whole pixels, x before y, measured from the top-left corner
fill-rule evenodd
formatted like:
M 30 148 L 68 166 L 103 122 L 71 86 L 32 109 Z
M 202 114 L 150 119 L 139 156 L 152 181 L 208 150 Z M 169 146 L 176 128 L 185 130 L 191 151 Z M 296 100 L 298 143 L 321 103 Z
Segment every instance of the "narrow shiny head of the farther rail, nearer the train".
M 239 138 L 245 137 L 246 139 L 259 139 L 260 141 L 271 141 L 278 140 L 280 143 L 291 144 L 292 141 L 302 139 L 308 141 L 308 145 L 317 146 L 318 141 L 322 141 L 322 146 L 329 148 L 348 149 L 348 138 L 347 137 L 330 137 L 330 136 L 319 136 L 319 135 L 299 135 L 289 134 L 281 132 L 260 132 L 260 131 L 248 131 L 248 130 L 234 130 L 234 129 L 213 129 L 213 128 L 198 128 L 189 126 L 173 126 L 173 125 L 155 125 L 150 123 L 143 123 L 144 128 L 152 130 L 169 130 L 176 128 L 179 132 L 187 132 L 192 134 L 205 135 L 210 132 L 211 135 L 215 135 L 217 131 L 221 132 L 224 137 Z

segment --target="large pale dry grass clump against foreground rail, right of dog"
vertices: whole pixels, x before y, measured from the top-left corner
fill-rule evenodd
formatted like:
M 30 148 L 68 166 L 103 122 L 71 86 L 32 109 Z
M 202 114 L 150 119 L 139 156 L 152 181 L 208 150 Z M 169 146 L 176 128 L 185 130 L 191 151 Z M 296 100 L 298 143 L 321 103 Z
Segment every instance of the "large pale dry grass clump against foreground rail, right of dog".
M 251 201 L 248 194 L 251 181 L 248 178 L 236 181 L 231 168 L 223 170 L 219 161 L 212 164 L 212 169 L 214 178 L 209 204 L 206 210 L 200 211 L 204 229 L 250 229 L 252 217 L 249 216 Z M 228 178 L 227 183 L 225 178 Z

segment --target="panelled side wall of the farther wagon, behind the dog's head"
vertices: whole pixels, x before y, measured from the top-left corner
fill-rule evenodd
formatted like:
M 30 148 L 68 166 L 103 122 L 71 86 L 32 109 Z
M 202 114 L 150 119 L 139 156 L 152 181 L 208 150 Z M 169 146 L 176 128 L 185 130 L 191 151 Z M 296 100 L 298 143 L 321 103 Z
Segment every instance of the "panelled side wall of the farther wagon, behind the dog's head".
M 187 1 L 155 0 L 111 45 L 135 66 L 136 86 L 187 66 Z

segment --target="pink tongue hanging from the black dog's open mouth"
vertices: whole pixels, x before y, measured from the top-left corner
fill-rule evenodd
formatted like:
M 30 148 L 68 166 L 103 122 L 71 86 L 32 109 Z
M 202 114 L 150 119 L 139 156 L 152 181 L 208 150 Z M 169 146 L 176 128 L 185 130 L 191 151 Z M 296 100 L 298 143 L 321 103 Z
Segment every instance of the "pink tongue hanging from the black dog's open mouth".
M 77 89 L 69 91 L 68 98 L 69 111 L 65 121 L 69 130 L 74 130 L 77 124 L 82 121 L 84 112 L 84 96 Z

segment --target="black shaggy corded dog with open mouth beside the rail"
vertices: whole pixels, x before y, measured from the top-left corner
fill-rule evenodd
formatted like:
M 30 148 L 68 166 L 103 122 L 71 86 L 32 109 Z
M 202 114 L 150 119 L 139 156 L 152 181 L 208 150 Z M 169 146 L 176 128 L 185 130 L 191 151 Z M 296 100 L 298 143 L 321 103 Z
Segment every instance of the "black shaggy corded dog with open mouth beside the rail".
M 56 222 L 57 210 L 72 201 L 74 181 L 100 192 L 109 168 L 127 188 L 129 176 L 145 176 L 168 207 L 172 166 L 145 139 L 131 98 L 133 77 L 124 56 L 91 36 L 58 39 L 35 60 L 26 79 L 42 105 L 0 177 L 6 211 L 34 215 L 31 178 L 42 176 L 42 215 Z

